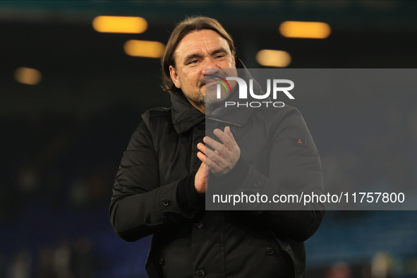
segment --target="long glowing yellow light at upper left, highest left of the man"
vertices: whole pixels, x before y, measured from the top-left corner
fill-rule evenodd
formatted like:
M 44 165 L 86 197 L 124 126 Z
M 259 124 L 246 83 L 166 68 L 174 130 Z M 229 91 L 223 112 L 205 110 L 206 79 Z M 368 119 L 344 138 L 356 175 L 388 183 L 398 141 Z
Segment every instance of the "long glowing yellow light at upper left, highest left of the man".
M 141 33 L 147 29 L 145 18 L 132 16 L 97 16 L 92 20 L 97 32 Z

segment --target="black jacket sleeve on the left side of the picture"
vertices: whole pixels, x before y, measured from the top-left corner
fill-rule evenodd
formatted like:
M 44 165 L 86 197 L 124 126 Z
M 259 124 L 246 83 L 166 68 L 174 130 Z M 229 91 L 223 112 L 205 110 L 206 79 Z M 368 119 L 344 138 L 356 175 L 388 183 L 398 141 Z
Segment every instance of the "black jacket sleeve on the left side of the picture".
M 150 116 L 147 111 L 131 136 L 113 187 L 110 222 L 116 234 L 126 241 L 136 241 L 187 221 L 198 210 L 185 210 L 177 196 L 178 192 L 189 194 L 189 190 L 179 191 L 179 187 L 193 186 L 188 184 L 193 183 L 193 175 L 160 186 L 159 159 L 149 125 Z

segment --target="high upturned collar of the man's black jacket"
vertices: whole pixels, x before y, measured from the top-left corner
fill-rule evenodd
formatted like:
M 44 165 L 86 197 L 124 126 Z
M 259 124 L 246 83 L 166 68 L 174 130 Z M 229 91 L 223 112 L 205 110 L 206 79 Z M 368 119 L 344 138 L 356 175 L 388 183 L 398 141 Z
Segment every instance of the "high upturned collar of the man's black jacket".
M 243 76 L 239 75 L 239 77 L 246 80 L 247 83 L 249 79 L 253 79 L 246 69 L 246 66 L 238 58 L 236 58 L 236 68 L 243 68 Z M 253 80 L 253 90 L 255 92 L 262 92 L 260 85 L 255 80 Z M 249 100 L 250 99 L 248 99 L 248 101 Z M 227 101 L 237 103 L 239 101 L 238 93 L 234 92 Z M 177 133 L 188 131 L 188 129 L 193 128 L 193 126 L 205 120 L 206 115 L 193 107 L 182 92 L 171 92 L 171 102 L 172 123 L 174 124 Z M 221 107 L 220 109 L 215 110 L 214 114 L 207 116 L 207 119 L 231 123 L 236 126 L 244 126 L 253 111 L 254 108 L 251 107 L 245 107 L 244 109 L 239 109 L 238 107 L 227 107 L 225 109 L 225 107 Z

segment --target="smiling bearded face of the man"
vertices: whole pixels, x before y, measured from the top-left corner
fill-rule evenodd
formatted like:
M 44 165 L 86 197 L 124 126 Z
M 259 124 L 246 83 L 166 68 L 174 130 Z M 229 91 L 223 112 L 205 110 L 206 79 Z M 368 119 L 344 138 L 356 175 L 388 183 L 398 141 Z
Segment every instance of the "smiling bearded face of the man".
M 176 67 L 169 66 L 171 79 L 177 88 L 198 109 L 205 106 L 213 107 L 224 101 L 231 92 L 222 88 L 221 98 L 217 99 L 217 75 L 226 79 L 227 76 L 237 76 L 236 63 L 231 54 L 229 44 L 213 30 L 194 31 L 179 42 L 174 52 Z M 234 68 L 234 71 L 227 70 Z M 206 84 L 207 75 L 207 84 Z M 210 80 L 215 79 L 215 80 Z M 236 87 L 236 81 L 229 81 L 231 90 Z

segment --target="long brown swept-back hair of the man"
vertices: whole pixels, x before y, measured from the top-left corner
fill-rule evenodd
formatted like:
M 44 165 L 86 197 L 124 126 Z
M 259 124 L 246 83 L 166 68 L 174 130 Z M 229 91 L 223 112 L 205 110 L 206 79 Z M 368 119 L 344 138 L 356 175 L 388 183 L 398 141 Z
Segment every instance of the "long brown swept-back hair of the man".
M 224 40 L 229 44 L 231 54 L 234 56 L 236 54 L 236 49 L 234 47 L 234 42 L 231 39 L 231 35 L 223 28 L 219 21 L 213 18 L 207 18 L 206 16 L 193 16 L 188 17 L 181 23 L 176 25 L 176 28 L 171 33 L 169 37 L 167 47 L 165 47 L 164 55 L 161 57 L 161 66 L 162 66 L 162 89 L 167 92 L 180 91 L 175 87 L 174 82 L 172 82 L 171 75 L 169 74 L 169 66 L 175 65 L 174 52 L 176 46 L 181 42 L 183 37 L 186 37 L 190 32 L 200 31 L 200 30 L 213 30 L 219 35 L 224 37 Z

